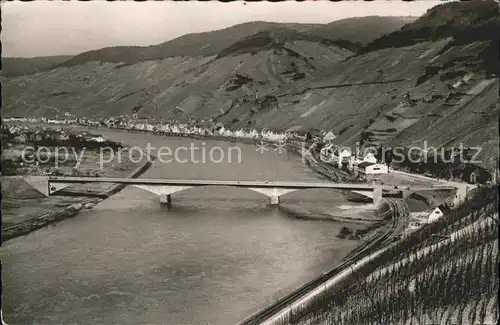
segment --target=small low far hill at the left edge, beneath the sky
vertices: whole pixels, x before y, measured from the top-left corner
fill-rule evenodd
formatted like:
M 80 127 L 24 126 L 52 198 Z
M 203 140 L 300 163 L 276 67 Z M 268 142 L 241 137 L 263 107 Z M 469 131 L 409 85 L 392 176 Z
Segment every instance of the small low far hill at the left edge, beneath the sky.
M 71 55 L 39 56 L 34 58 L 2 58 L 2 76 L 15 77 L 51 68 L 71 58 Z

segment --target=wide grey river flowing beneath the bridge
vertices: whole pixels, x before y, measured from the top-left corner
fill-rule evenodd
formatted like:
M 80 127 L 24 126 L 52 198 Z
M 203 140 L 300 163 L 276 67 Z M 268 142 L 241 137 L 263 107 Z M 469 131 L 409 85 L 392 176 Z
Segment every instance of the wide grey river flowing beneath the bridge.
M 207 152 L 218 146 L 226 155 L 229 147 L 241 148 L 241 163 L 157 162 L 145 178 L 320 180 L 299 156 L 271 147 L 261 154 L 253 145 L 99 132 L 131 146 L 174 150 L 205 142 Z M 172 202 L 169 211 L 154 194 L 129 186 L 72 219 L 4 243 L 4 320 L 234 324 L 334 267 L 359 244 L 336 238 L 342 223 L 289 216 L 352 205 L 331 190 L 289 193 L 280 208 L 230 187 L 188 189 Z

